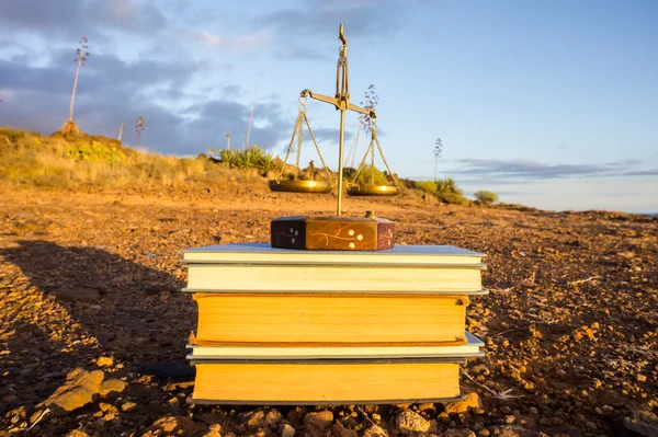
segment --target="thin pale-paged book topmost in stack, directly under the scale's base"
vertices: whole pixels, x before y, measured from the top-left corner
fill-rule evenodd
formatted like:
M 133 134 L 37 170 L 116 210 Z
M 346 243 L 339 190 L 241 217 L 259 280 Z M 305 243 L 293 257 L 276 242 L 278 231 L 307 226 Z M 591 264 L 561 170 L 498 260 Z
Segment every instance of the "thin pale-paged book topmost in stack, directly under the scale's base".
M 183 264 L 450 265 L 484 267 L 484 253 L 453 245 L 396 245 L 386 251 L 297 251 L 264 243 L 232 243 L 181 251 Z

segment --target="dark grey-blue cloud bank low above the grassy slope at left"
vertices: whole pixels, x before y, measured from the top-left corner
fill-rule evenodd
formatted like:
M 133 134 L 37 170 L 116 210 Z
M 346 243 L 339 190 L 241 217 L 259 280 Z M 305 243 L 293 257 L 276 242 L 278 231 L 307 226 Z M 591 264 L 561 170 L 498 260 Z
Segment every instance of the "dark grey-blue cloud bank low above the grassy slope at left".
M 126 61 L 115 55 L 94 56 L 80 72 L 76 123 L 84 131 L 114 138 L 125 123 L 123 138 L 129 145 L 135 120 L 143 116 L 145 130 L 139 143 L 163 153 L 196 154 L 216 148 L 225 145 L 227 131 L 234 134 L 236 145 L 243 142 L 248 105 L 231 101 L 232 95 L 213 99 L 186 91 L 202 68 L 185 60 Z M 57 130 L 68 117 L 73 71 L 67 50 L 53 53 L 43 67 L 0 59 L 2 124 L 42 134 Z M 238 94 L 239 88 L 231 85 L 226 91 Z M 288 118 L 284 119 L 275 103 L 257 105 L 250 142 L 275 147 L 290 137 Z

